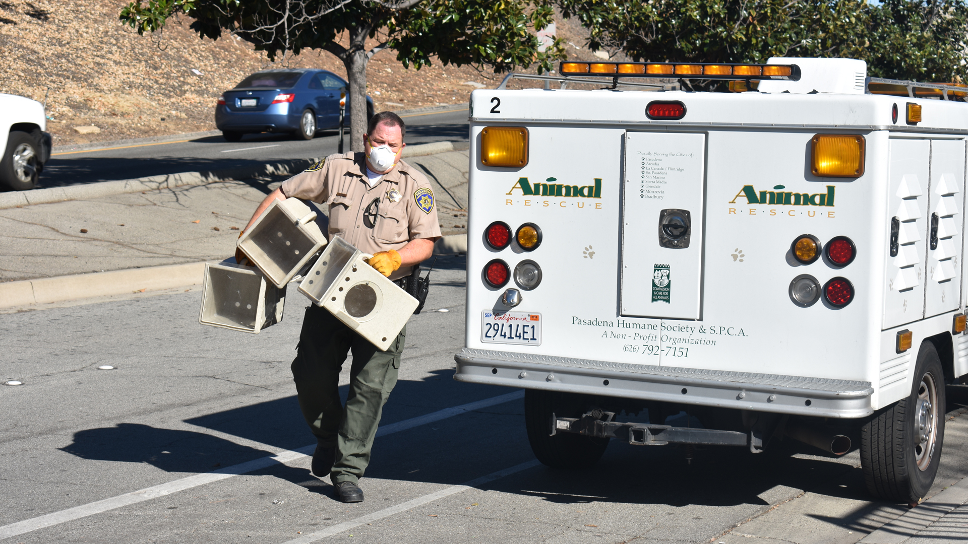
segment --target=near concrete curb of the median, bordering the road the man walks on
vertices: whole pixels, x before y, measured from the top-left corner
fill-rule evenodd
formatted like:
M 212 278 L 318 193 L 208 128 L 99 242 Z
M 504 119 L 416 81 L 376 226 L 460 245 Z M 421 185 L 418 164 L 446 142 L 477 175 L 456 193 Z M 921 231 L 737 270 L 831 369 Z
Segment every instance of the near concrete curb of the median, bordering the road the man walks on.
M 434 244 L 435 255 L 467 251 L 467 234 L 443 236 Z M 201 284 L 204 273 L 202 261 L 7 282 L 0 284 L 0 308 L 194 286 Z

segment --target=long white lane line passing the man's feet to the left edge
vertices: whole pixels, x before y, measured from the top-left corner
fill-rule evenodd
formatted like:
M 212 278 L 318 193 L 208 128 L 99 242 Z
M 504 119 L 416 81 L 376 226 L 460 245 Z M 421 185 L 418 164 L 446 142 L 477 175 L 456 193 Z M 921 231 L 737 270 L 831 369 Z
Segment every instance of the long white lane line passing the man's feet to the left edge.
M 409 419 L 405 419 L 404 421 L 398 421 L 396 423 L 386 425 L 378 430 L 377 436 L 381 437 L 391 435 L 393 433 L 400 433 L 401 431 L 407 431 L 408 429 L 412 429 L 426 423 L 439 421 L 440 419 L 446 419 L 462 413 L 467 413 L 471 410 L 488 408 L 511 401 L 516 401 L 524 398 L 524 396 L 525 392 L 523 390 L 518 390 L 514 391 L 513 393 L 507 393 L 497 397 L 491 397 L 490 399 L 484 399 L 483 401 L 476 401 L 453 408 L 443 408 L 435 412 L 418 415 L 417 417 L 411 417 Z M 315 449 L 316 444 L 310 444 L 294 450 L 283 450 L 275 455 L 261 457 L 246 463 L 240 463 L 238 465 L 232 465 L 231 467 L 226 468 L 219 468 L 218 470 L 212 470 L 211 472 L 195 474 L 194 476 L 173 480 L 161 485 L 144 488 L 132 493 L 119 495 L 117 497 L 112 497 L 110 499 L 96 500 L 94 502 L 75 506 L 74 508 L 68 508 L 66 510 L 45 514 L 44 516 L 38 516 L 22 522 L 5 525 L 0 527 L 0 540 L 10 538 L 11 536 L 16 536 L 17 534 L 30 532 L 32 530 L 44 529 L 79 518 L 100 514 L 102 512 L 127 506 L 129 504 L 135 504 L 136 502 L 164 497 L 172 493 L 177 493 L 179 491 L 185 491 L 186 489 L 191 489 L 200 485 L 217 482 L 219 480 L 224 480 L 239 474 L 245 474 L 262 468 L 273 467 L 275 465 L 286 464 L 295 461 L 296 459 L 313 455 L 313 451 Z M 495 472 L 495 474 L 497 473 L 498 472 Z M 491 474 L 488 476 L 490 475 Z M 488 476 L 484 477 L 486 478 Z M 454 493 L 457 492 L 455 491 Z

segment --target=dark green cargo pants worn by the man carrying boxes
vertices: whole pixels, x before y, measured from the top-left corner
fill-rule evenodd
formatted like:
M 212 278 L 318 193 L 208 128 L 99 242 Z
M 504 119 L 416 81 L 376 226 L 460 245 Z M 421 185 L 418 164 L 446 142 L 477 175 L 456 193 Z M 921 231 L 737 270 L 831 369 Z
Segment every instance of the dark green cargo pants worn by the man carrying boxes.
M 318 442 L 336 446 L 333 485 L 356 483 L 370 464 L 379 417 L 397 384 L 407 326 L 386 351 L 378 350 L 332 314 L 316 305 L 306 309 L 292 378 L 303 417 Z M 340 371 L 352 351 L 347 406 L 340 401 Z

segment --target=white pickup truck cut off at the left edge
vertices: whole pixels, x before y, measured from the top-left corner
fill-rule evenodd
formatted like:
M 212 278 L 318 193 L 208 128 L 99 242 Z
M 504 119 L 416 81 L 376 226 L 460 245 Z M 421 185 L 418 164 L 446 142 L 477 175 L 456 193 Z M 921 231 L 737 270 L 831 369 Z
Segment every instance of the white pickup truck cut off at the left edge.
M 50 158 L 44 106 L 28 98 L 0 94 L 0 187 L 27 191 Z

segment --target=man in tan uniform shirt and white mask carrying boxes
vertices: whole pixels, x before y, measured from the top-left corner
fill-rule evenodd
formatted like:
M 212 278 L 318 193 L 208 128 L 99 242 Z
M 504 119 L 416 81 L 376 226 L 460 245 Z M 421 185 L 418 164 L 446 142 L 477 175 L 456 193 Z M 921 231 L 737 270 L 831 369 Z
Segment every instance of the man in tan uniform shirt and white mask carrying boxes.
M 266 196 L 249 225 L 275 198 L 325 204 L 330 239 L 340 236 L 373 254 L 370 264 L 399 281 L 433 253 L 440 236 L 436 201 L 427 178 L 400 160 L 406 126 L 399 116 L 378 113 L 367 133 L 365 153 L 330 155 L 290 177 Z M 299 408 L 317 437 L 313 473 L 321 477 L 328 472 L 345 502 L 363 500 L 357 484 L 370 463 L 406 338 L 405 326 L 390 348 L 379 351 L 326 310 L 316 305 L 306 309 L 292 376 Z M 344 408 L 339 378 L 348 350 L 353 363 Z

